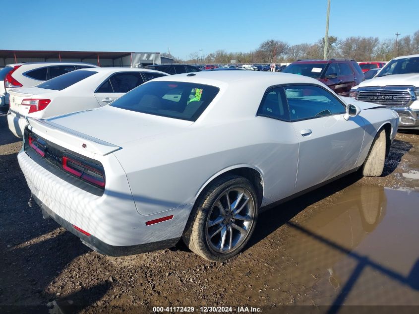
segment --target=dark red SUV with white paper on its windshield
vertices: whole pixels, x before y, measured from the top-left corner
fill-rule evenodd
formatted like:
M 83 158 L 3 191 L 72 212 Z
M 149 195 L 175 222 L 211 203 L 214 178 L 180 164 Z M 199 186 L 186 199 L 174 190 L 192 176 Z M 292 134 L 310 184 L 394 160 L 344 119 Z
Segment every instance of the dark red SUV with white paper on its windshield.
M 282 72 L 316 78 L 341 96 L 349 96 L 351 88 L 365 79 L 358 63 L 352 59 L 298 60 Z

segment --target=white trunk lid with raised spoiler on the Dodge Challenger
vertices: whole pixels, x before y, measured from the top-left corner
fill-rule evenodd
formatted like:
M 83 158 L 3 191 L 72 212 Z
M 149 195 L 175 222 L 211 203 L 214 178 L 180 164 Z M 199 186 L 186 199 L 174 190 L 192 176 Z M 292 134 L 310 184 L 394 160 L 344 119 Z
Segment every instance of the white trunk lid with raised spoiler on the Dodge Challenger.
M 28 119 L 35 133 L 57 140 L 57 144 L 76 152 L 107 155 L 127 142 L 140 138 L 173 133 L 192 124 L 132 112 L 111 106 L 71 113 L 48 120 Z

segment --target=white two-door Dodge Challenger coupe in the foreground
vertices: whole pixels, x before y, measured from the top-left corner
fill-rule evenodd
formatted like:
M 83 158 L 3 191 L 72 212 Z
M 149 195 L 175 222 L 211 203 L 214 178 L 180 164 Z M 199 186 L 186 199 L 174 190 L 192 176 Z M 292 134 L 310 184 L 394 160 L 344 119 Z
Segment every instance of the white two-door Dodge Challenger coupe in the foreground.
M 45 218 L 108 255 L 183 238 L 220 261 L 243 249 L 261 207 L 358 169 L 380 176 L 399 116 L 309 77 L 219 71 L 28 120 L 18 161 Z

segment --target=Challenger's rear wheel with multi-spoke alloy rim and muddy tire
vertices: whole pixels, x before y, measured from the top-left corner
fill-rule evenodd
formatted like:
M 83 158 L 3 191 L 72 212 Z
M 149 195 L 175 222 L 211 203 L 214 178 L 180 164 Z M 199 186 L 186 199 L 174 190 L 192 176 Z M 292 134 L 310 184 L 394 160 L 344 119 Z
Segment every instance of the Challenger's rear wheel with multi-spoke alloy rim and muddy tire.
M 183 235 L 189 249 L 212 261 L 238 254 L 256 225 L 258 202 L 252 184 L 225 176 L 211 184 L 195 203 Z

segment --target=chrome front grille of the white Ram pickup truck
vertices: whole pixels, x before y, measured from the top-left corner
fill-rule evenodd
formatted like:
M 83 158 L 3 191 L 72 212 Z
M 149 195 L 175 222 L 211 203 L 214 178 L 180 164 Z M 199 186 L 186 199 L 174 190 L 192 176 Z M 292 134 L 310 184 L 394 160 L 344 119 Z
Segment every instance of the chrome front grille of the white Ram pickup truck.
M 411 88 L 359 88 L 357 100 L 390 106 L 409 107 L 415 94 Z

